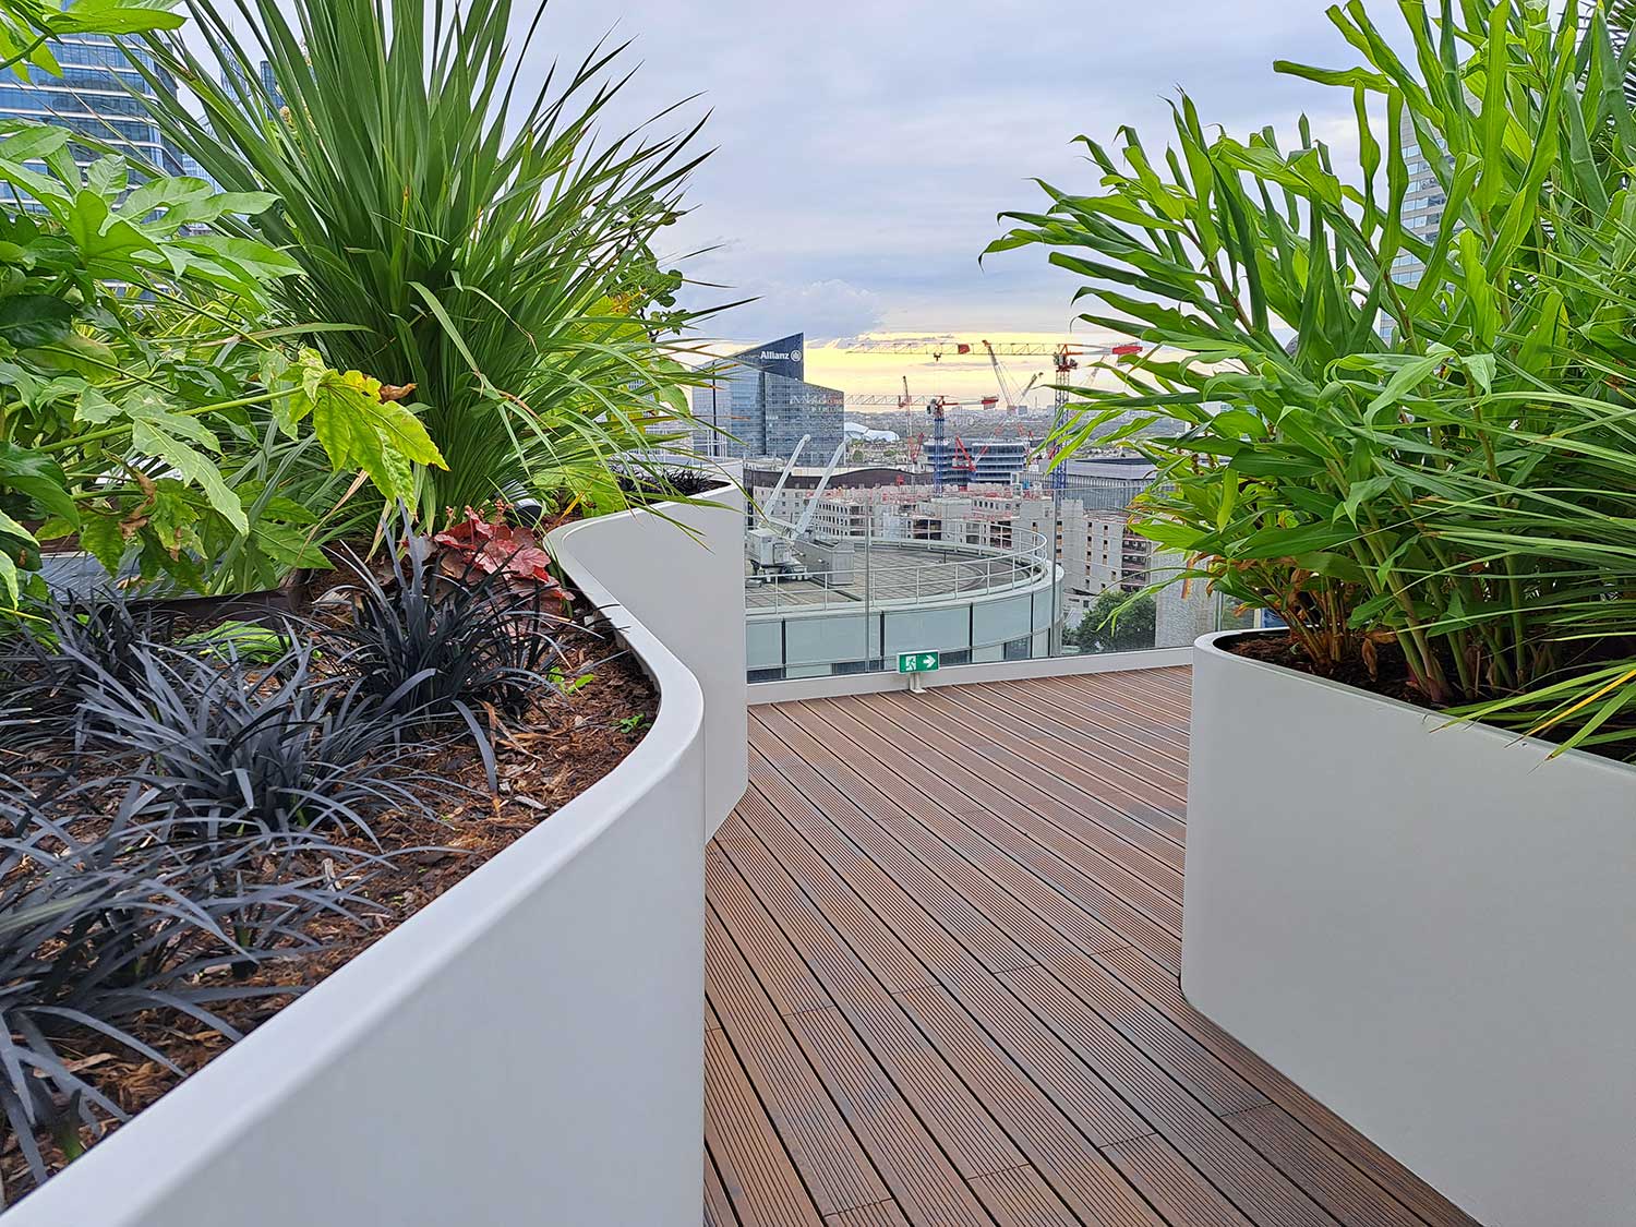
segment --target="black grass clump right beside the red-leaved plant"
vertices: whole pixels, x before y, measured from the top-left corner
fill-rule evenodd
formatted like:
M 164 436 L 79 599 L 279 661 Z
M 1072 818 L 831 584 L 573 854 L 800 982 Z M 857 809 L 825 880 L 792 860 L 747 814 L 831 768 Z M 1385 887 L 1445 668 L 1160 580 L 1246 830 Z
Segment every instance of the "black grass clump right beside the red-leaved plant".
M 362 561 L 352 569 L 350 614 L 324 635 L 337 667 L 398 728 L 463 723 L 492 789 L 492 726 L 522 720 L 542 694 L 561 695 L 551 681 L 563 658 L 553 631 L 568 625 L 560 600 L 545 589 L 514 591 L 504 568 L 450 576 L 414 535 L 384 582 Z

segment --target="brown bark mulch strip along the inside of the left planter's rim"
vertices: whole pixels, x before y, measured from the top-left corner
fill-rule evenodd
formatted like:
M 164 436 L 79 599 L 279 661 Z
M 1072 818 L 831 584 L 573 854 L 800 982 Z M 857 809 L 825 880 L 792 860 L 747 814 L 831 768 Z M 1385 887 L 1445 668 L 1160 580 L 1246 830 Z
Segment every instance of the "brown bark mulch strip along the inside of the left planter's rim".
M 581 599 L 576 607 L 584 609 L 586 602 Z M 249 983 L 291 988 L 321 983 L 486 861 L 548 821 L 556 810 L 612 772 L 646 736 L 658 713 L 658 694 L 636 659 L 609 635 L 594 630 L 574 625 L 556 633 L 563 649 L 558 667 L 566 677 L 591 671 L 591 681 L 566 697 L 542 695 L 525 726 L 494 731 L 497 792 L 491 793 L 483 759 L 470 739 L 452 736 L 435 749 L 406 759 L 406 771 L 448 782 L 435 789 L 435 798 L 432 785 L 425 790 L 427 800 L 435 800 L 438 808 L 434 816 L 412 810 L 371 815 L 370 823 L 381 849 L 432 851 L 398 857 L 368 880 L 362 893 L 380 905 L 380 913 L 368 916 L 363 926 L 326 921 L 324 928 L 309 929 L 326 942 L 326 951 L 267 965 Z M 450 803 L 450 795 L 458 800 Z M 380 851 L 360 833 L 330 836 L 365 852 Z M 293 1000 L 294 993 L 288 998 L 231 1001 L 214 1009 L 226 1022 L 249 1032 Z M 187 1073 L 203 1068 L 231 1047 L 219 1032 L 172 1011 L 141 1016 L 129 1031 Z M 128 1112 L 147 1108 L 182 1081 L 164 1065 L 144 1060 L 93 1031 L 85 1031 L 79 1040 L 65 1042 L 59 1050 L 74 1060 L 75 1072 L 88 1075 Z M 115 1121 L 106 1124 L 116 1127 Z M 0 1145 L 0 1181 L 8 1199 L 15 1199 L 31 1181 L 16 1139 L 3 1126 L 0 1132 L 7 1132 Z M 88 1132 L 82 1140 L 85 1145 L 93 1142 Z M 56 1170 L 62 1152 L 47 1139 L 41 1139 L 41 1148 Z

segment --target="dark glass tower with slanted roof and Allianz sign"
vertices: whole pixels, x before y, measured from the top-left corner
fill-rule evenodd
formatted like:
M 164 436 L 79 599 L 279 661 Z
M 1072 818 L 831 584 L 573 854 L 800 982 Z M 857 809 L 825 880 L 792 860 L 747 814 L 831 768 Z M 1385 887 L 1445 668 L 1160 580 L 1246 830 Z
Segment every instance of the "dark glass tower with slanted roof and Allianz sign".
M 703 429 L 694 447 L 723 460 L 789 460 L 811 435 L 802 460 L 828 463 L 846 434 L 846 394 L 807 383 L 807 335 L 725 358 L 715 378 L 694 388 L 694 417 Z

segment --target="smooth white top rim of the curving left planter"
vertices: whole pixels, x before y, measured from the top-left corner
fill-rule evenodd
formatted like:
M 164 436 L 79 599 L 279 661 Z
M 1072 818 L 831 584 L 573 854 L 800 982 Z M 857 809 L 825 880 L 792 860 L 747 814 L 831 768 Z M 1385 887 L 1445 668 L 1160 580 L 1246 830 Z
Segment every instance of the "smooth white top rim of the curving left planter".
M 628 514 L 643 514 L 633 509 Z M 116 1181 L 137 1220 L 175 1184 L 214 1155 L 231 1152 L 240 1134 L 276 1111 L 291 1085 L 316 1076 L 371 1032 L 399 1003 L 463 957 L 507 913 L 574 862 L 671 777 L 703 728 L 703 692 L 692 672 L 631 618 L 574 556 L 569 538 L 599 520 L 581 520 L 551 535 L 553 558 L 587 600 L 609 614 L 620 640 L 658 690 L 648 735 L 607 775 L 563 805 L 502 852 L 474 869 L 366 951 L 280 1009 L 219 1057 L 100 1140 L 20 1201 L 0 1207 L 0 1222 L 59 1222 L 61 1209 L 92 1204 L 100 1181 Z M 614 617 L 612 612 L 618 614 Z M 360 1008 L 360 1000 L 365 1005 Z M 177 1162 L 152 1162 L 151 1140 Z

